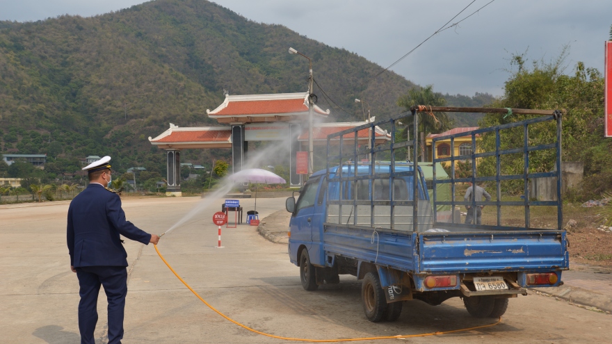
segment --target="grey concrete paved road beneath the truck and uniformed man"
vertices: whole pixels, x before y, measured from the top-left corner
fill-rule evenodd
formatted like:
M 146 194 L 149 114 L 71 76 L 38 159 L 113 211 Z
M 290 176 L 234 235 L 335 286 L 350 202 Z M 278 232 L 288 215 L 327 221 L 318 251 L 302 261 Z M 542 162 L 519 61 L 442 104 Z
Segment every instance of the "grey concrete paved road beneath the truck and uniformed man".
M 351 338 L 420 334 L 483 325 L 460 300 L 441 306 L 413 301 L 394 323 L 364 318 L 360 284 L 342 277 L 338 286 L 314 293 L 300 286 L 287 246 L 270 243 L 255 227 L 223 228 L 216 249 L 212 213 L 223 201 L 202 204 L 193 197 L 124 202 L 129 220 L 161 234 L 194 206 L 202 211 L 164 236 L 161 253 L 208 302 L 245 325 L 280 336 Z M 252 200 L 241 200 L 250 208 Z M 260 217 L 284 207 L 284 199 L 258 199 Z M 0 206 L 0 342 L 79 343 L 76 276 L 65 246 L 67 204 Z M 129 240 L 129 293 L 124 343 L 284 343 L 252 334 L 220 318 L 172 275 L 152 246 Z M 99 343 L 105 343 L 104 292 L 99 300 Z M 412 343 L 604 343 L 612 316 L 579 309 L 551 297 L 510 300 L 503 323 L 444 336 L 410 338 Z M 397 339 L 376 341 L 396 343 Z M 362 343 L 374 343 L 367 341 Z

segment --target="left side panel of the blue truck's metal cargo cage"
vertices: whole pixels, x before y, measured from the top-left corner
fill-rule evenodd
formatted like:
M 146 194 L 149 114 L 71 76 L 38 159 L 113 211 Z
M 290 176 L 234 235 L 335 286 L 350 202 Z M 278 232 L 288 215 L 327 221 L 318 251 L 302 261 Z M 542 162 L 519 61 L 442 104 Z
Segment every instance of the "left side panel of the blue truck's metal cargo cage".
M 395 139 L 398 126 L 402 125 L 399 121 L 411 116 L 416 127 L 417 116 L 412 113 L 400 113 L 328 136 L 326 177 L 329 183 L 337 183 L 339 187 L 337 195 L 340 195 L 339 199 L 330 199 L 330 188 L 328 188 L 327 213 L 329 224 L 356 228 L 380 227 L 382 230 L 401 231 L 417 231 L 419 227 L 421 230 L 431 227 L 431 224 L 433 224 L 431 217 L 433 215 L 430 204 L 425 197 L 426 186 L 420 183 L 418 166 L 411 162 L 407 163 L 405 160 L 396 161 L 397 149 L 408 149 L 408 154 L 411 156 L 414 156 L 414 152 L 419 149 L 419 142 L 414 140 L 414 136 L 412 136 L 412 140 L 403 142 L 396 142 Z M 360 132 L 367 131 L 367 135 L 370 136 L 369 142 L 376 142 L 375 128 L 385 124 L 391 126 L 388 143 L 376 147 L 374 145 L 360 147 Z M 346 142 L 350 143 L 345 144 Z M 337 154 L 333 152 L 334 149 Z M 385 158 L 377 161 L 379 154 L 383 154 Z M 360 161 L 360 158 L 365 159 Z M 385 163 L 381 163 L 380 160 L 385 160 Z M 410 169 L 403 169 L 403 171 L 398 172 L 396 171 L 396 165 L 398 164 L 408 165 Z M 332 166 L 336 165 L 338 166 L 337 170 L 335 170 L 334 176 L 330 177 L 330 174 L 333 173 Z M 367 174 L 364 174 L 363 167 L 367 167 Z M 403 181 L 402 177 L 412 177 L 412 181 L 417 181 L 417 183 L 408 183 L 408 195 L 399 194 L 402 191 L 396 184 Z M 367 181 L 367 186 L 364 183 L 365 181 Z M 358 197 L 357 188 L 360 186 L 362 188 L 367 187 L 368 197 L 362 197 L 361 199 Z M 382 190 L 383 186 L 387 190 Z M 349 188 L 351 193 L 348 193 L 346 188 Z M 384 191 L 384 196 L 373 197 L 373 193 L 377 191 Z M 351 199 L 342 196 L 348 194 L 351 195 Z M 346 208 L 348 208 L 348 212 Z M 408 210 L 410 214 L 398 211 L 399 209 Z M 365 215 L 362 213 L 365 213 Z M 336 214 L 337 221 L 334 221 L 334 223 L 330 220 Z M 364 221 L 364 218 L 369 218 L 369 221 Z M 414 221 L 414 219 L 418 220 Z

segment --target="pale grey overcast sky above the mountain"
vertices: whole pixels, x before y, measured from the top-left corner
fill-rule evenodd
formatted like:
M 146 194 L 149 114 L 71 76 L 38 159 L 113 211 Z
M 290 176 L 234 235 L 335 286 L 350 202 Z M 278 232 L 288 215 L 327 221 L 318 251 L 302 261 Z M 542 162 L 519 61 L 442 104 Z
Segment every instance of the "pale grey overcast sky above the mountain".
M 476 0 L 452 23 L 490 0 Z M 0 19 L 18 22 L 61 14 L 91 16 L 139 0 L 0 0 Z M 293 31 L 387 67 L 428 38 L 472 0 L 216 0 L 255 22 Z M 610 0 L 495 0 L 457 27 L 435 35 L 392 70 L 434 90 L 501 95 L 513 53 L 556 58 L 565 44 L 566 73 L 577 61 L 603 71 L 612 24 Z M 293 47 L 300 50 L 300 47 Z M 308 54 L 308 51 L 303 51 Z M 313 66 L 316 74 L 316 65 Z

